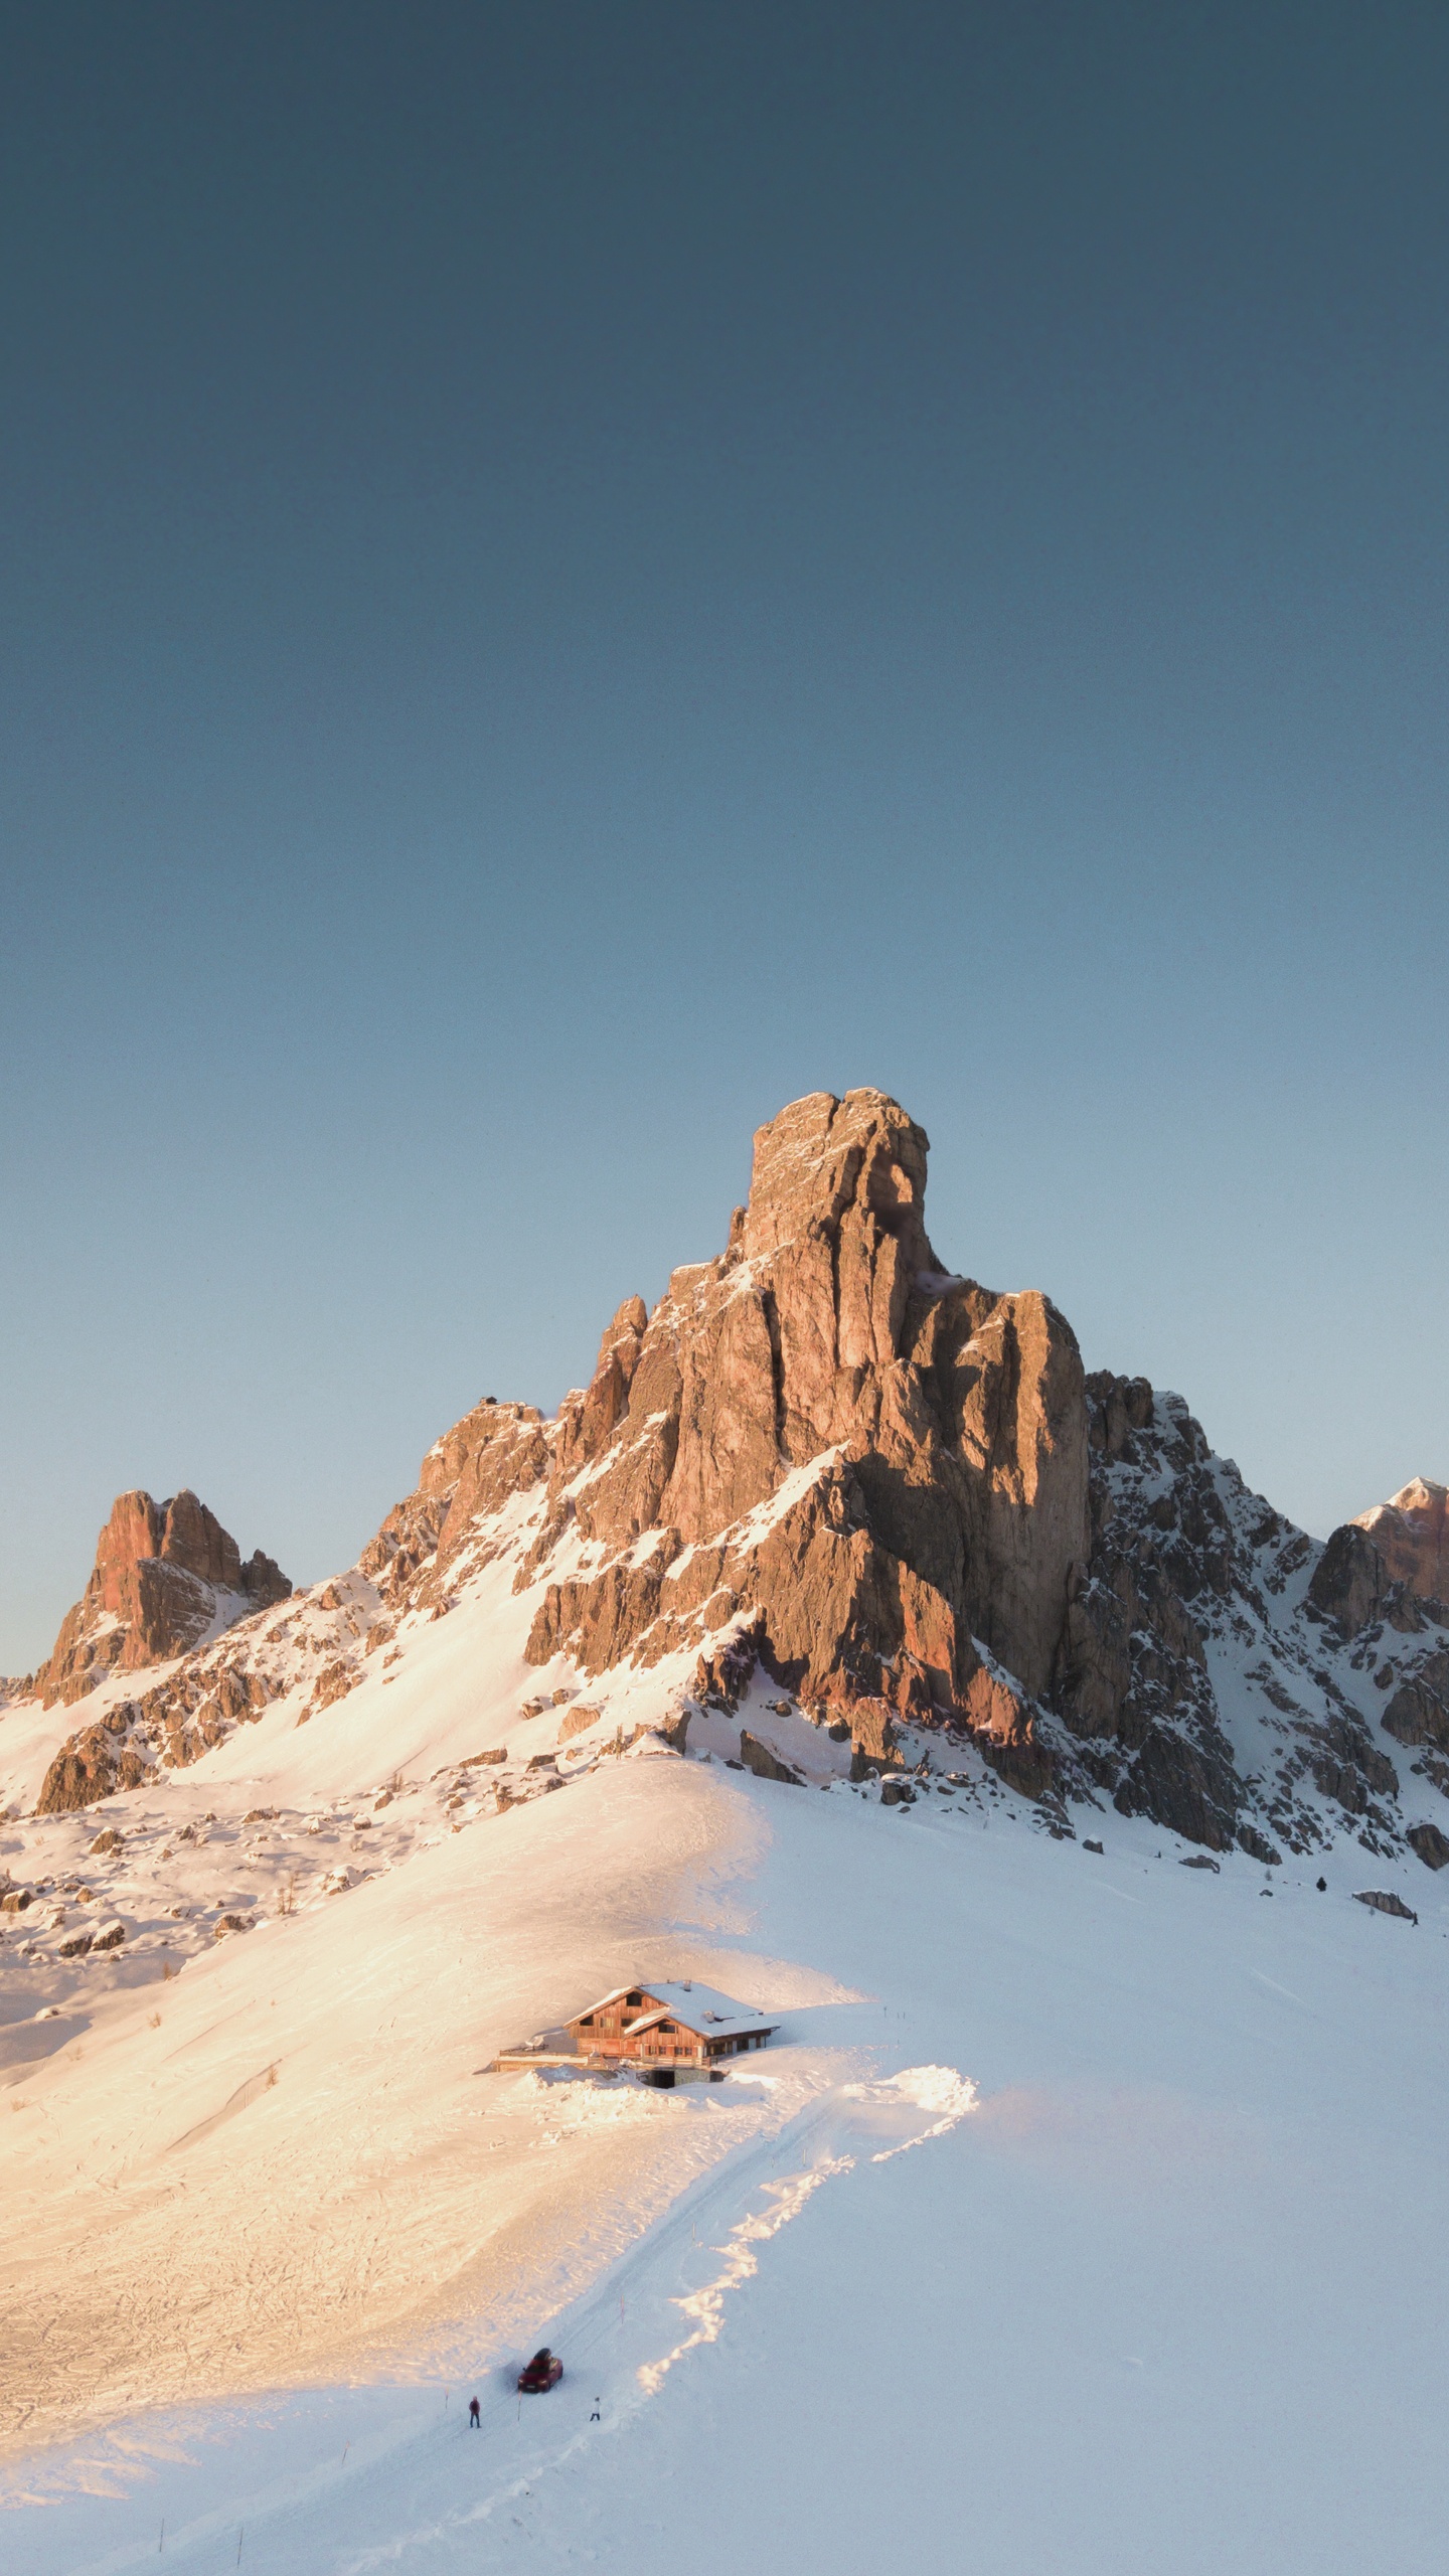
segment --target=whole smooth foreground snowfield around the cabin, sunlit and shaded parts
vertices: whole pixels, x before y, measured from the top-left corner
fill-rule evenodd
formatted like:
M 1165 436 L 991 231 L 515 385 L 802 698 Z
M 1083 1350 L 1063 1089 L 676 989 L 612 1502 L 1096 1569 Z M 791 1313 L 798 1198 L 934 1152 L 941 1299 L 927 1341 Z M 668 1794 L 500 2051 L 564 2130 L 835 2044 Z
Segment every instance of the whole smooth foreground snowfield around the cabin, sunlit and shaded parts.
M 26 2391 L 59 2409 L 85 2342 L 106 2365 L 93 2429 L 10 2455 L 5 2563 L 1436 2563 L 1449 1906 L 1415 1886 L 1418 1927 L 1385 1919 L 1354 1860 L 1263 1893 L 1245 1855 L 1101 1839 L 621 1762 L 490 1824 L 487 1865 L 449 1837 L 320 1911 L 358 1973 L 315 2009 L 307 1924 L 188 1965 L 160 2032 L 155 1986 L 121 1996 L 3 2112 L 23 2197 L 46 2130 L 54 2187 L 134 2105 L 111 2231 L 93 2195 L 23 2202 L 10 2424 Z M 637 1947 L 779 2009 L 779 2043 L 673 2094 L 472 2074 L 523 1996 L 541 2022 L 544 1986 L 562 2009 Z M 199 2223 L 206 2300 L 168 2251 Z M 358 2300 L 345 2380 L 309 2388 L 299 2231 L 304 2282 Z M 214 2303 L 258 2393 L 188 2403 Z M 541 2339 L 565 2380 L 521 2401 Z

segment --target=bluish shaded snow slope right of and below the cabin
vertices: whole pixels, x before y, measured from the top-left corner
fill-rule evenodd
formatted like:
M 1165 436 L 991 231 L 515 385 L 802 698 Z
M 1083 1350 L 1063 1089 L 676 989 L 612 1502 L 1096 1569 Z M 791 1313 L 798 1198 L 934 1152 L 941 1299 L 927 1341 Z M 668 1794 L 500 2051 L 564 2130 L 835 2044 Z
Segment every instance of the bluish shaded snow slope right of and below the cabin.
M 670 2190 L 642 2231 L 562 2308 L 549 2239 L 536 2311 L 464 2318 L 433 2375 L 10 2458 L 5 2566 L 1439 2563 L 1449 1906 L 1426 1870 L 1338 1852 L 1328 1893 L 1318 1865 L 1263 1893 L 1245 1857 L 1183 1870 L 1114 1816 L 1093 1857 L 1018 1801 L 884 1811 L 668 1759 L 487 1832 L 567 1821 L 578 1868 L 590 1819 L 678 1850 L 657 1937 L 699 1976 L 768 2002 L 773 1960 L 797 1996 L 859 2002 L 794 2004 L 722 2087 L 480 2079 L 565 2213 L 578 2159 L 647 2125 Z M 1418 1927 L 1351 1901 L 1374 1883 Z M 565 2383 L 521 2401 L 541 2339 Z

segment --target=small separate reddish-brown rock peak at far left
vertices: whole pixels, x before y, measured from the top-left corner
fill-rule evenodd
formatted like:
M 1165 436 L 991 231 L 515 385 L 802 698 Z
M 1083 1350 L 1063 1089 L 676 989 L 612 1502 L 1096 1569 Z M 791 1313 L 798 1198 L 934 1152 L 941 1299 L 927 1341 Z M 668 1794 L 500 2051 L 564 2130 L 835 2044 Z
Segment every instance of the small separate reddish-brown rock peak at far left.
M 46 1708 L 70 1705 L 108 1672 L 165 1664 L 289 1592 L 286 1574 L 260 1548 L 242 1564 L 237 1540 L 196 1494 L 170 1502 L 119 1494 L 90 1582 L 36 1672 L 36 1692 Z

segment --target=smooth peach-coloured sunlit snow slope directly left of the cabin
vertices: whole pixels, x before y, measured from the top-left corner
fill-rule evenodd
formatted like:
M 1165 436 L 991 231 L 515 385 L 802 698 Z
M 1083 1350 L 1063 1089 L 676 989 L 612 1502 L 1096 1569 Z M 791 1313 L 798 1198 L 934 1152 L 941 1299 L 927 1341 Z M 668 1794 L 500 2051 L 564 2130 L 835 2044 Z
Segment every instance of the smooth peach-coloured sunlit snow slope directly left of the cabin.
M 487 2306 L 505 2336 L 554 2272 L 557 2300 L 611 2259 L 773 2097 L 637 2094 L 578 2123 L 482 2069 L 629 1976 L 645 1937 L 657 1958 L 681 1868 L 748 1829 L 724 1775 L 614 1765 L 113 1994 L 0 2097 L 10 2439 L 400 2342 L 418 2367 L 449 2318 Z

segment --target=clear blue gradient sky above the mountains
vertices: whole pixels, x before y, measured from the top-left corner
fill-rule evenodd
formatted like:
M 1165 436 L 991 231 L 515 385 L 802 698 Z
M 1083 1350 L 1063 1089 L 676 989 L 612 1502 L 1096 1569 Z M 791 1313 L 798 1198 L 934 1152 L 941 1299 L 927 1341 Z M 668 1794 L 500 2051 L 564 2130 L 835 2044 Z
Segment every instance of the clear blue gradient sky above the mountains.
M 817 1087 L 1310 1528 L 1449 1476 L 1444 8 L 0 18 L 0 1669 Z

